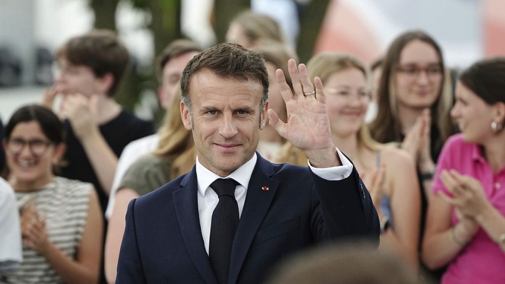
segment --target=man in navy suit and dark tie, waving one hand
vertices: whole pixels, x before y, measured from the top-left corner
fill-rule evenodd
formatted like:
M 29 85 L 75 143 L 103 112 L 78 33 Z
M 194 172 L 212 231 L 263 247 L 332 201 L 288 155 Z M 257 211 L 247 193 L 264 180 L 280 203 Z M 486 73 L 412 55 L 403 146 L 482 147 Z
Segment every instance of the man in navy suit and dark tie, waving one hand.
M 260 53 L 222 43 L 188 63 L 180 109 L 193 133 L 196 165 L 130 202 L 116 283 L 261 283 L 272 267 L 313 244 L 358 238 L 378 244 L 370 195 L 331 140 L 321 80 L 314 86 L 294 60 L 288 67 L 294 93 L 276 72 L 284 123 L 268 110 Z M 267 110 L 269 123 L 304 151 L 309 167 L 272 164 L 255 152 Z M 216 237 L 213 218 L 222 197 L 213 184 L 220 178 L 234 180 L 239 215 L 226 253 L 215 245 L 224 239 Z M 216 268 L 216 251 L 225 269 Z

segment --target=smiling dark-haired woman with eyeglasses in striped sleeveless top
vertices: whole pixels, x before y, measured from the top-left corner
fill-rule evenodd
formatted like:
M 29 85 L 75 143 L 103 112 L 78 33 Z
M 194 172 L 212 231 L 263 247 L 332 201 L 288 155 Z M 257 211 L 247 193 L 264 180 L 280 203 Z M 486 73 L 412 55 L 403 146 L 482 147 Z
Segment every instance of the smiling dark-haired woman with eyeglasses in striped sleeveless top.
M 9 182 L 21 206 L 23 262 L 6 283 L 96 283 L 103 221 L 93 186 L 55 176 L 64 127 L 37 105 L 18 109 L 5 128 Z

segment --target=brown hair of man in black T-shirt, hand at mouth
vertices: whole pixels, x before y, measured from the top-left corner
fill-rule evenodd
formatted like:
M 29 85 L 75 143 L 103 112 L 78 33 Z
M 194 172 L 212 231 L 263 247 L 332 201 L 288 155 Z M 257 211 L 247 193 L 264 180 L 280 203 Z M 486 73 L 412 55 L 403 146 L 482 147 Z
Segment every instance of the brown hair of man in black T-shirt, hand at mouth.
M 67 41 L 57 52 L 58 58 L 65 58 L 73 65 L 84 65 L 96 77 L 107 73 L 114 76 L 114 82 L 107 92 L 112 96 L 128 66 L 129 54 L 126 47 L 110 30 L 94 30 Z

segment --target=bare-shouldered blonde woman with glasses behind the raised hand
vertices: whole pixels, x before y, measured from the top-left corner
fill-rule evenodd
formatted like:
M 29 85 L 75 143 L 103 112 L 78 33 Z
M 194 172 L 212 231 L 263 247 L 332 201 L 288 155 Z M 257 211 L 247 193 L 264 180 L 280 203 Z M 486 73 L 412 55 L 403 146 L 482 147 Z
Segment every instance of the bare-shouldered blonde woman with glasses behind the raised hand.
M 381 220 L 381 246 L 393 248 L 417 267 L 420 201 L 414 161 L 405 151 L 370 137 L 364 123 L 371 100 L 367 69 L 355 57 L 320 53 L 307 70 L 311 78 L 323 81 L 335 145 L 352 159 L 372 196 Z M 286 144 L 280 161 L 305 166 L 308 160 Z

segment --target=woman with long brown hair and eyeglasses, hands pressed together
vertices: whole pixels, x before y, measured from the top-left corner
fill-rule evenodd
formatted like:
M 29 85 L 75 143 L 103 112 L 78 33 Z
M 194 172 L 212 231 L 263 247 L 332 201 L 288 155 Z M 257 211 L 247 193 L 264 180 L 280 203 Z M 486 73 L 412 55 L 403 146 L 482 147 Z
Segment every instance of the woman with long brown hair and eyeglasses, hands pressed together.
M 397 143 L 416 160 L 422 239 L 435 163 L 445 140 L 456 132 L 449 115 L 450 76 L 440 46 L 430 35 L 407 31 L 394 39 L 383 59 L 377 104 L 372 137 L 380 143 Z

